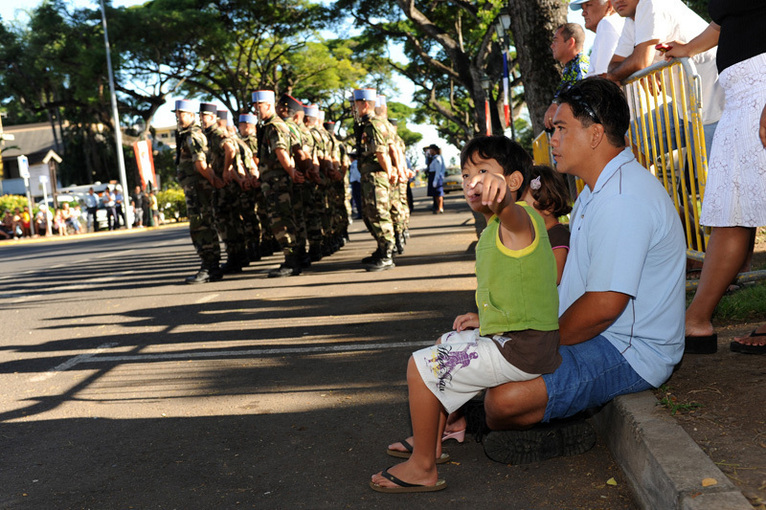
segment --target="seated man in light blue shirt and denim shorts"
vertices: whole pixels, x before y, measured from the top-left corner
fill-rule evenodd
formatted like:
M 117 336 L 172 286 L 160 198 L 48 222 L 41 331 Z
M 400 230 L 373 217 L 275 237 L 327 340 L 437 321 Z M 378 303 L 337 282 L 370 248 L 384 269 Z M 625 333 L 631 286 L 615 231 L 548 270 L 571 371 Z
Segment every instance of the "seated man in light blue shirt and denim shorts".
M 657 387 L 683 354 L 683 229 L 662 185 L 625 149 L 625 98 L 614 83 L 588 78 L 557 101 L 551 139 L 557 170 L 585 182 L 570 216 L 570 252 L 559 286 L 562 364 L 552 374 L 488 390 L 487 424 L 495 430 L 567 418 Z M 485 452 L 513 462 L 536 431 L 538 449 L 527 451 L 527 459 L 592 446 L 592 433 L 588 444 L 561 440 L 574 437 L 568 423 L 577 422 L 559 422 L 553 433 L 551 426 L 523 436 L 492 432 Z M 561 441 L 551 445 L 556 436 Z

